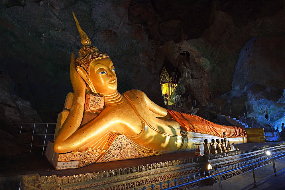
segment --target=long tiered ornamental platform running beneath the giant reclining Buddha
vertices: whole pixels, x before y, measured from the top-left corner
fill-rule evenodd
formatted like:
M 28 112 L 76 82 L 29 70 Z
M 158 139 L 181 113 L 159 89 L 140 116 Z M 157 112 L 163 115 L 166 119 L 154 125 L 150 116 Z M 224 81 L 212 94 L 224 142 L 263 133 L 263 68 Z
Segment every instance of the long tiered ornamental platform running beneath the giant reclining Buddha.
M 207 156 L 195 156 L 195 151 L 178 152 L 155 156 L 151 158 L 140 158 L 134 160 L 120 160 L 116 162 L 97 163 L 79 168 L 76 170 L 51 171 L 48 174 L 42 173 L 37 180 L 38 189 L 142 189 L 145 186 L 151 189 L 152 184 L 156 189 L 160 187 L 162 181 L 163 188 L 167 188 L 167 181 L 174 185 L 181 184 L 181 177 L 193 180 L 193 175 L 207 172 L 207 165 L 210 163 L 213 168 L 224 168 L 252 159 L 257 159 L 266 155 L 266 151 L 272 153 L 285 149 L 285 143 L 248 143 L 239 145 L 240 150 L 225 152 L 221 154 L 211 154 Z M 260 167 L 269 164 L 271 160 L 261 162 L 256 165 Z M 250 167 L 241 168 L 227 174 L 223 174 L 222 180 L 240 175 L 251 170 Z M 195 182 L 185 186 L 185 189 L 202 185 L 217 183 L 218 178 Z

